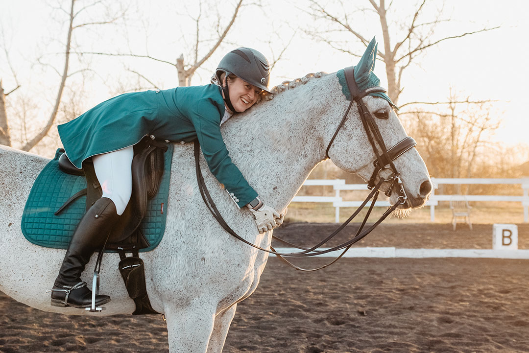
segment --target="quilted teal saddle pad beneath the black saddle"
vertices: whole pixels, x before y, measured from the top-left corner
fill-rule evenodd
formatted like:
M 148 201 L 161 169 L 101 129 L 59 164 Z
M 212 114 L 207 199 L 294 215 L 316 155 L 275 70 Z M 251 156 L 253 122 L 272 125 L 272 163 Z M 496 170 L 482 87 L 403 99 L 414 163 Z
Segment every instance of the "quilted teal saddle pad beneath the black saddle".
M 163 154 L 164 172 L 158 193 L 147 202 L 147 213 L 140 229 L 150 246 L 140 249 L 148 252 L 160 243 L 166 225 L 167 198 L 171 174 L 172 144 Z M 86 211 L 86 195 L 72 201 L 59 215 L 57 211 L 73 194 L 86 188 L 84 175 L 71 175 L 59 170 L 60 149 L 40 172 L 31 188 L 22 215 L 22 233 L 33 244 L 66 249 Z M 112 250 L 111 250 L 112 251 Z

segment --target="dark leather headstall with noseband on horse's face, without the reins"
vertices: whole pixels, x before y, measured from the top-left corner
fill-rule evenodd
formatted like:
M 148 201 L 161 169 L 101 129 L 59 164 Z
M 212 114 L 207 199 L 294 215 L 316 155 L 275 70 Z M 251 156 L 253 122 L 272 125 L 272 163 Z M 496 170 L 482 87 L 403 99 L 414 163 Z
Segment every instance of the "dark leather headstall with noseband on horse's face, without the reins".
M 351 66 L 345 68 L 344 73 L 345 82 L 347 82 L 347 87 L 351 92 L 351 103 L 345 111 L 340 125 L 338 125 L 338 128 L 336 128 L 336 131 L 334 132 L 334 135 L 332 136 L 329 145 L 327 145 L 327 149 L 325 150 L 325 156 L 327 158 L 330 158 L 329 150 L 331 148 L 331 145 L 334 142 L 336 135 L 338 135 L 340 128 L 343 126 L 343 124 L 345 124 L 345 120 L 347 120 L 349 110 L 351 110 L 351 106 L 353 105 L 353 103 L 356 103 L 360 119 L 362 120 L 362 125 L 366 130 L 369 143 L 371 144 L 373 152 L 375 152 L 375 156 L 377 157 L 375 162 L 373 162 L 375 170 L 373 170 L 373 173 L 371 174 L 371 179 L 368 182 L 368 188 L 370 190 L 375 188 L 375 180 L 377 179 L 377 177 L 380 179 L 380 172 L 382 170 L 391 170 L 391 174 L 389 175 L 389 177 L 384 179 L 385 182 L 389 182 L 389 186 L 385 194 L 389 197 L 391 195 L 391 190 L 393 190 L 395 185 L 397 185 L 397 193 L 399 195 L 397 202 L 405 203 L 408 197 L 406 196 L 406 191 L 404 191 L 402 181 L 400 181 L 400 173 L 397 171 L 397 168 L 395 168 L 395 164 L 393 164 L 393 161 L 397 159 L 398 156 L 402 155 L 404 152 L 413 148 L 417 143 L 412 137 L 406 136 L 402 141 L 399 141 L 395 146 L 389 148 L 388 150 L 386 148 L 386 144 L 384 143 L 384 139 L 380 134 L 380 130 L 378 129 L 377 123 L 375 122 L 375 118 L 373 118 L 373 116 L 371 115 L 362 100 L 363 97 L 366 97 L 371 93 L 387 93 L 387 90 L 382 87 L 370 87 L 363 91 L 360 91 L 357 82 L 354 80 L 354 67 Z M 377 148 L 377 144 L 379 148 Z M 382 153 L 378 152 L 379 149 Z M 389 165 L 389 168 L 387 167 L 387 165 Z

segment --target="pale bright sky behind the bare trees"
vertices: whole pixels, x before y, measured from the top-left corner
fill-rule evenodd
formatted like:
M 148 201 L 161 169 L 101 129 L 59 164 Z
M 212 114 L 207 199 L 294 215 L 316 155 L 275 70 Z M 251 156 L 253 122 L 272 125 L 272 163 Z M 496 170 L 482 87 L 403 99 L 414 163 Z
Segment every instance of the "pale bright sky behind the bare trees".
M 63 50 L 62 43 L 66 38 L 67 17 L 65 13 L 57 10 L 57 7 L 62 4 L 67 8 L 68 3 L 61 0 L 0 0 L 0 78 L 6 91 L 15 87 L 16 83 L 6 60 L 7 52 L 11 67 L 22 85 L 16 94 L 31 95 L 37 101 L 40 100 L 41 103 L 37 103 L 32 112 L 42 116 L 42 119 L 49 114 L 49 108 L 47 110 L 45 107 L 53 101 L 59 82 L 59 76 L 51 66 L 60 71 L 63 61 L 59 53 Z M 90 2 L 79 1 L 79 6 L 86 3 Z M 198 14 L 196 2 L 124 0 L 114 3 L 112 11 L 115 12 L 119 4 L 126 4 L 124 6 L 129 10 L 133 9 L 127 14 L 129 21 L 126 26 L 106 25 L 95 29 L 78 29 L 74 37 L 77 48 L 105 52 L 132 49 L 174 62 L 181 53 L 191 47 L 195 32 L 194 23 L 189 17 Z M 234 0 L 220 3 L 213 14 L 218 12 L 221 17 L 224 16 L 222 18 L 226 18 L 231 15 L 234 3 Z M 367 3 L 367 0 L 344 2 L 351 8 L 364 3 Z M 272 71 L 272 85 L 287 78 L 304 76 L 308 72 L 334 72 L 355 64 L 357 58 L 333 50 L 325 43 L 318 43 L 304 32 L 304 29 L 318 24 L 305 13 L 308 4 L 306 0 L 269 0 L 263 2 L 260 7 L 243 7 L 225 43 L 203 68 L 197 71 L 192 84 L 208 83 L 210 72 L 214 70 L 222 55 L 227 50 L 239 46 L 254 47 L 272 59 L 288 44 L 287 50 Z M 394 29 L 407 23 L 410 9 L 415 8 L 415 4 L 416 1 L 394 1 L 391 5 L 393 18 L 402 19 L 402 23 L 395 21 Z M 330 10 L 340 14 L 341 8 L 333 6 L 329 5 Z M 460 34 L 484 27 L 500 28 L 444 41 L 428 50 L 418 61 L 419 64 L 409 67 L 405 72 L 402 79 L 404 91 L 399 103 L 445 101 L 450 89 L 458 92 L 462 98 L 496 100 L 493 104 L 494 114 L 501 115 L 502 124 L 493 138 L 506 145 L 525 143 L 529 127 L 524 106 L 529 79 L 529 66 L 525 62 L 529 56 L 529 25 L 525 17 L 529 13 L 529 3 L 495 0 L 432 1 L 427 3 L 425 15 L 433 16 L 441 7 L 444 17 L 449 17 L 451 21 L 440 24 L 436 35 Z M 92 10 L 89 8 L 87 15 L 90 15 Z M 203 16 L 206 18 L 202 23 L 214 27 L 215 16 L 207 18 L 204 15 L 207 11 L 203 10 Z M 376 36 L 381 40 L 380 24 L 372 13 L 357 13 L 351 22 L 358 26 L 364 36 Z M 211 28 L 201 29 L 205 40 L 207 30 Z M 392 39 L 398 38 L 396 32 L 397 30 L 392 32 L 390 27 L 390 35 L 394 35 Z M 336 39 L 341 39 L 342 36 L 337 33 Z M 361 44 L 351 40 L 350 36 L 343 36 L 343 40 L 346 43 L 344 45 L 351 51 L 359 54 L 363 52 Z M 207 47 L 208 42 L 204 45 Z M 37 58 L 40 58 L 40 62 L 45 66 L 37 64 Z M 75 66 L 74 60 L 77 59 L 72 59 L 72 67 Z M 123 78 L 121 75 L 116 76 L 116 73 L 130 74 L 130 70 L 141 70 L 142 74 L 162 89 L 174 87 L 178 82 L 174 68 L 152 60 L 97 55 L 84 55 L 81 60 L 85 63 L 90 61 L 91 70 L 86 73 L 86 77 L 77 74 L 69 78 L 73 89 L 66 93 L 74 95 L 75 87 L 78 87 L 76 85 L 86 88 L 86 92 L 77 97 L 80 110 L 110 98 L 120 88 L 130 84 L 131 75 L 124 75 Z M 386 86 L 382 62 L 377 62 L 375 72 L 381 79 L 382 86 Z M 16 96 L 13 94 L 9 98 L 15 99 Z

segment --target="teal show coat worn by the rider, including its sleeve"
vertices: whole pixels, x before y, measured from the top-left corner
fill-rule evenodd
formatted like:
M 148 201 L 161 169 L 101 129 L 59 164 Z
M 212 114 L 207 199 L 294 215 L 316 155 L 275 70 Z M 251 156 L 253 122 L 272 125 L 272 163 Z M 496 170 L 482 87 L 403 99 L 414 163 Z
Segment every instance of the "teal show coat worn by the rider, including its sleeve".
M 223 116 L 220 87 L 177 87 L 108 99 L 58 130 L 68 158 L 79 169 L 85 159 L 134 145 L 145 135 L 171 142 L 198 138 L 209 170 L 243 207 L 257 192 L 231 161 L 221 135 Z

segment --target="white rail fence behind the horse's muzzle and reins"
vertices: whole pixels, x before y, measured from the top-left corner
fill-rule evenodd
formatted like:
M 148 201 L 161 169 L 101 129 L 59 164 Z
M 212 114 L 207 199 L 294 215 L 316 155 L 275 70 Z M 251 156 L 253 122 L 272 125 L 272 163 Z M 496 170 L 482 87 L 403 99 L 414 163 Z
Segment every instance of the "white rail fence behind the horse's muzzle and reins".
M 492 178 L 432 178 L 434 190 L 430 199 L 426 202 L 426 206 L 430 206 L 430 219 L 432 222 L 435 220 L 435 206 L 439 205 L 439 201 L 450 201 L 450 200 L 468 200 L 468 201 L 479 201 L 479 202 L 494 202 L 494 201 L 510 201 L 510 202 L 521 202 L 524 212 L 524 222 L 529 222 L 529 178 L 524 179 L 492 179 Z M 452 194 L 436 194 L 435 190 L 439 189 L 441 184 L 518 184 L 522 188 L 522 196 L 510 196 L 510 195 L 452 195 Z M 335 208 L 335 222 L 338 223 L 340 219 L 340 207 L 359 207 L 362 205 L 363 200 L 344 201 L 340 196 L 341 190 L 367 190 L 366 184 L 345 184 L 343 179 L 329 179 L 329 180 L 317 180 L 307 179 L 304 186 L 325 186 L 330 185 L 333 187 L 335 194 L 334 196 L 295 196 L 292 202 L 332 202 Z M 368 203 L 365 207 L 368 207 Z M 388 201 L 377 201 L 375 206 L 388 207 Z

